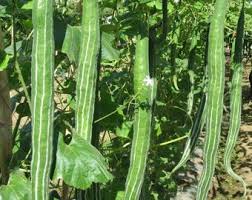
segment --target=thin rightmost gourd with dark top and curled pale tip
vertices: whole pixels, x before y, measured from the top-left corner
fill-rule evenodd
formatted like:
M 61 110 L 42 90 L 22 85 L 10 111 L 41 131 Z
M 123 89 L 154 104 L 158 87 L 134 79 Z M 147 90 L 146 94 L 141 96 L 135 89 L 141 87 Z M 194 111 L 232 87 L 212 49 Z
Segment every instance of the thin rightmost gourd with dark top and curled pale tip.
M 231 82 L 231 103 L 230 103 L 230 125 L 224 152 L 224 167 L 234 179 L 239 180 L 244 187 L 244 196 L 246 195 L 246 183 L 237 175 L 231 167 L 231 156 L 235 148 L 236 140 L 239 134 L 241 124 L 241 103 L 242 103 L 242 51 L 244 35 L 244 4 L 242 6 L 240 17 L 237 24 L 237 37 L 235 40 L 234 60 L 232 63 L 232 82 Z

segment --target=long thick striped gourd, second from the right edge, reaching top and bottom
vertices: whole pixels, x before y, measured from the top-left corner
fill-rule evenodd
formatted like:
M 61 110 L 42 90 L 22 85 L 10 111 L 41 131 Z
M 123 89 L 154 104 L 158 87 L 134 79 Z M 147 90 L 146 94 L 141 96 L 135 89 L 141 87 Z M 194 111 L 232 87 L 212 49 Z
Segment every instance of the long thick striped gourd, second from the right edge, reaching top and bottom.
M 219 146 L 225 80 L 224 21 L 228 2 L 228 0 L 216 0 L 210 24 L 207 65 L 206 138 L 203 152 L 203 172 L 197 188 L 197 200 L 205 200 L 207 198 L 214 175 Z

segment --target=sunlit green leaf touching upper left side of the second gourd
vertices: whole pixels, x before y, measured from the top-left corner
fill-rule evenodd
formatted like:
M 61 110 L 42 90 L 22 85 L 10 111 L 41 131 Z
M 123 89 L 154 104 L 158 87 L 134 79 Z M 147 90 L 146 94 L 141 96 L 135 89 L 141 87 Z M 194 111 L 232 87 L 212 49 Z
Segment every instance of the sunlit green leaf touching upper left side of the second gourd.
M 66 36 L 62 46 L 62 52 L 67 54 L 71 62 L 78 63 L 78 55 L 80 51 L 80 35 L 79 26 L 67 26 Z

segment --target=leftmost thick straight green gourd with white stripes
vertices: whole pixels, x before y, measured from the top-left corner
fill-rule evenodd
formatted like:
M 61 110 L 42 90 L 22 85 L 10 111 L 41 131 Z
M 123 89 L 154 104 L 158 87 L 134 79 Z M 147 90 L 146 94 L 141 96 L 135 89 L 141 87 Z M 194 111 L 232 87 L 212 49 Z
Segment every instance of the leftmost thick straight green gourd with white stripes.
M 33 1 L 32 199 L 49 196 L 53 139 L 53 0 Z

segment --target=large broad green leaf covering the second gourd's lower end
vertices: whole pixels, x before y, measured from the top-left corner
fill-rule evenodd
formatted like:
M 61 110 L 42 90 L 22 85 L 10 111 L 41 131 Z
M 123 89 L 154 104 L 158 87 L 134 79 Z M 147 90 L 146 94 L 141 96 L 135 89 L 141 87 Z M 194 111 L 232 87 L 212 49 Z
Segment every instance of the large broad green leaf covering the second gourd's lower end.
M 87 189 L 93 182 L 105 184 L 113 176 L 100 152 L 76 134 L 69 145 L 59 137 L 54 179 L 59 178 L 75 188 Z

